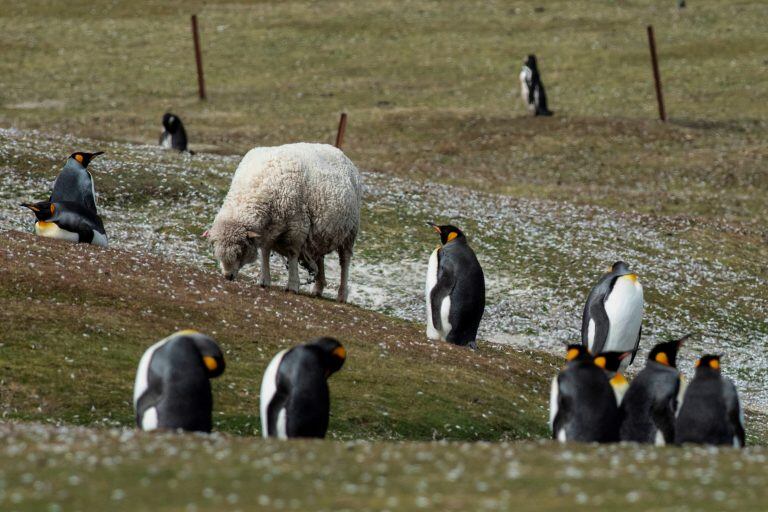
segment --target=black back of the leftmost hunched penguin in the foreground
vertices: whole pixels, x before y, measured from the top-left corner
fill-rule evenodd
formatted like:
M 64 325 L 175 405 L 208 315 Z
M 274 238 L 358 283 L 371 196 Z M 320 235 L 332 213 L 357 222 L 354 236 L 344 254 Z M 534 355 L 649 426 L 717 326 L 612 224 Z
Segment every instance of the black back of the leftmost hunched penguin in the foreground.
M 136 407 L 139 416 L 155 407 L 159 428 L 211 431 L 211 383 L 199 350 L 188 339 L 170 340 L 155 351 L 147 382 Z

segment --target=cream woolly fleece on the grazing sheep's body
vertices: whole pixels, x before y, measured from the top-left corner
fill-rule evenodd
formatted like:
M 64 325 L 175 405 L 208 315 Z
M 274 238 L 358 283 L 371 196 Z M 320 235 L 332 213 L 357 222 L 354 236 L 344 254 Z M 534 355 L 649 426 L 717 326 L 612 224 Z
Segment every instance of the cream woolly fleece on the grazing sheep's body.
M 287 239 L 274 247 L 283 255 L 297 249 L 303 259 L 315 261 L 354 244 L 361 196 L 357 168 L 333 146 L 254 148 L 237 167 L 211 238 L 226 246 L 253 231 L 270 245 L 278 237 Z

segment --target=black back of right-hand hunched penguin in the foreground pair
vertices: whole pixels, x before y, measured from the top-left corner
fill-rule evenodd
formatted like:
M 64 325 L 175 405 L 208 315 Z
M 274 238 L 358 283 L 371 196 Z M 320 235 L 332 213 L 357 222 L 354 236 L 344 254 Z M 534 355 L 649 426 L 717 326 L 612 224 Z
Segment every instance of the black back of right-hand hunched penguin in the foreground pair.
M 269 405 L 269 431 L 276 432 L 280 409 L 286 409 L 286 435 L 325 437 L 330 413 L 330 394 L 317 347 L 302 345 L 289 350 L 277 372 L 277 390 Z

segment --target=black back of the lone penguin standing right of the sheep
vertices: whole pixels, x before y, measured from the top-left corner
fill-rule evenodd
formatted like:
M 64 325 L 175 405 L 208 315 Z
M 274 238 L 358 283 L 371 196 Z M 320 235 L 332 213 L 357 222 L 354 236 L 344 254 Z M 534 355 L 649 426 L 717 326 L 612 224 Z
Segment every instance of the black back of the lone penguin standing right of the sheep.
M 440 249 L 440 268 L 438 273 L 447 273 L 451 279 L 452 289 L 451 309 L 448 321 L 451 324 L 451 332 L 447 341 L 457 345 L 466 345 L 475 341 L 477 329 L 485 310 L 485 276 L 480 262 L 477 261 L 475 252 L 466 243 L 466 240 L 450 242 Z M 443 280 L 438 274 L 438 285 Z M 448 291 L 448 290 L 446 290 Z M 439 293 L 436 292 L 436 293 Z M 432 307 L 440 309 L 444 294 L 439 294 L 437 301 L 432 302 Z M 439 313 L 438 313 L 439 315 Z

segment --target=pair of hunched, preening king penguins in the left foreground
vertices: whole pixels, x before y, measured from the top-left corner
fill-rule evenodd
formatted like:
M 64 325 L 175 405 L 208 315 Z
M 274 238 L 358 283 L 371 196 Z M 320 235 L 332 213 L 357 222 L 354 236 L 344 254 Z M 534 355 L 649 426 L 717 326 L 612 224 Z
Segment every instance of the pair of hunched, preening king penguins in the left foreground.
M 330 416 L 327 379 L 346 357 L 344 346 L 333 338 L 279 352 L 261 381 L 262 437 L 325 437 Z M 133 388 L 138 428 L 210 432 L 210 379 L 224 368 L 219 346 L 197 331 L 179 331 L 149 347 L 139 361 Z

